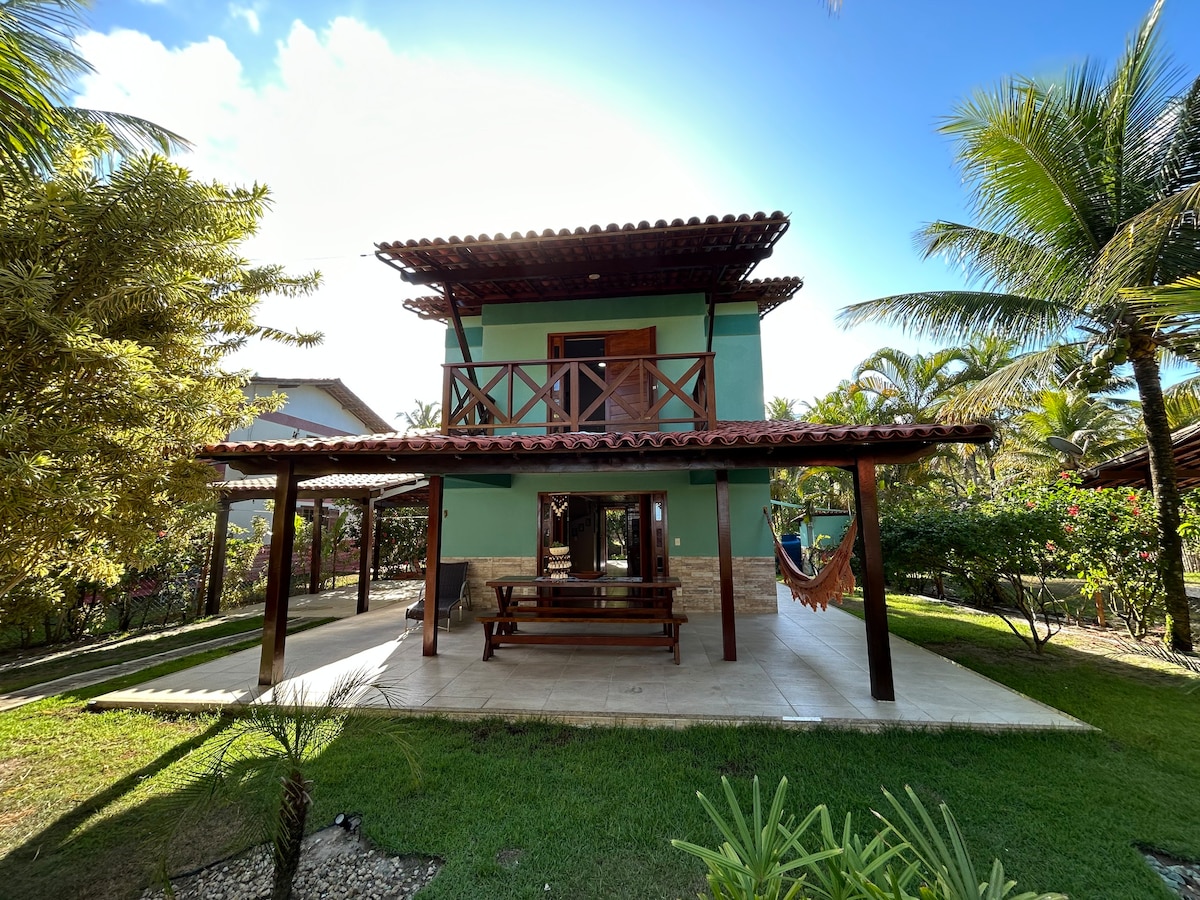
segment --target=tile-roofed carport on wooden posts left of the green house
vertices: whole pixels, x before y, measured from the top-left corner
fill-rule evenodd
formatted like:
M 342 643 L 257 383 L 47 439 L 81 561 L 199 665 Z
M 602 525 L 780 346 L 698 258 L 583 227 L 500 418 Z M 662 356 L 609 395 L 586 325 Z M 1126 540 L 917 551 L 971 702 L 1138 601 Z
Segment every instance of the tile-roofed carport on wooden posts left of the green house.
M 359 542 L 359 598 L 358 612 L 370 608 L 371 570 L 379 566 L 379 520 L 376 510 L 389 506 L 424 506 L 428 503 L 428 480 L 420 474 L 396 474 L 394 472 L 359 475 L 325 474 L 310 478 L 296 485 L 296 499 L 313 500 L 312 558 L 308 571 L 308 593 L 320 590 L 320 541 L 322 506 L 326 499 L 352 500 L 362 511 L 362 540 Z M 212 533 L 209 589 L 204 613 L 221 612 L 221 593 L 224 589 L 226 546 L 229 533 L 229 508 L 241 500 L 269 500 L 277 493 L 274 474 L 221 481 L 217 490 L 217 521 Z M 293 523 L 295 506 L 293 504 Z M 272 535 L 274 536 L 274 535 Z M 293 539 L 295 533 L 293 530 Z M 290 548 L 287 559 L 292 558 Z M 283 574 L 287 592 L 289 572 Z M 270 581 L 270 571 L 268 572 Z

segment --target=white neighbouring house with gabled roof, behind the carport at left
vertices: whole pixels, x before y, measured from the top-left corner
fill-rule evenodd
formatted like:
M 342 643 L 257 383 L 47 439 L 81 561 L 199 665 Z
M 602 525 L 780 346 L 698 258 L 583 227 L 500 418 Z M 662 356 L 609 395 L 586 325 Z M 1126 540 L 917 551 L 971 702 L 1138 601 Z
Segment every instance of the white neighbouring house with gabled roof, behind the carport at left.
M 228 440 L 328 438 L 335 434 L 379 434 L 396 430 L 395 425 L 371 409 L 338 378 L 254 376 L 242 391 L 252 400 L 280 392 L 287 395 L 288 401 L 276 412 L 263 413 L 250 426 L 232 432 Z M 244 474 L 229 466 L 221 478 L 236 481 Z M 311 510 L 312 502 L 301 500 L 301 506 Z M 254 516 L 268 516 L 266 500 L 235 503 L 229 511 L 229 522 L 248 529 Z

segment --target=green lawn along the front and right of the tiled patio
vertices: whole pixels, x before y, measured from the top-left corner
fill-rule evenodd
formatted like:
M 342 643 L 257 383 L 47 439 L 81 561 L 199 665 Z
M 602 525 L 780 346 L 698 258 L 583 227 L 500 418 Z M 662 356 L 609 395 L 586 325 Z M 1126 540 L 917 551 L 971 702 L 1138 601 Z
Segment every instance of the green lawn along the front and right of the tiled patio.
M 668 841 L 715 844 L 695 792 L 719 796 L 721 775 L 744 797 L 755 774 L 772 788 L 787 775 L 797 812 L 827 803 L 835 817 L 853 811 L 864 830 L 883 804 L 880 788 L 907 784 L 947 802 L 977 860 L 1000 857 L 1022 889 L 1170 898 L 1138 847 L 1200 858 L 1198 679 L 1066 643 L 1034 656 L 991 617 L 905 598 L 889 605 L 896 635 L 1100 731 L 649 731 L 414 718 L 404 730 L 421 781 L 386 742 L 343 737 L 313 769 L 311 822 L 359 811 L 385 850 L 445 860 L 422 900 L 684 898 L 703 888 L 703 864 Z M 168 858 L 179 871 L 251 840 L 228 827 L 232 815 L 184 816 L 176 794 L 187 755 L 227 720 L 83 712 L 100 690 L 0 715 L 0 898 L 133 898 Z

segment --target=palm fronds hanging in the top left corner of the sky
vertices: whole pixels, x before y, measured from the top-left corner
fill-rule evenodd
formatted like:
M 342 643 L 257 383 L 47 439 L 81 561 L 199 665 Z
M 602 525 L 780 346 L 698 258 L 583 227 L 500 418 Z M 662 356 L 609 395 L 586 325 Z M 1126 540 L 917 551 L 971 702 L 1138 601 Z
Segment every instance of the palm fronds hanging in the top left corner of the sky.
M 82 0 L 0 2 L 0 164 L 28 175 L 46 173 L 82 136 L 109 154 L 146 146 L 187 146 L 178 134 L 133 115 L 72 107 L 76 78 L 91 66 L 74 50 Z

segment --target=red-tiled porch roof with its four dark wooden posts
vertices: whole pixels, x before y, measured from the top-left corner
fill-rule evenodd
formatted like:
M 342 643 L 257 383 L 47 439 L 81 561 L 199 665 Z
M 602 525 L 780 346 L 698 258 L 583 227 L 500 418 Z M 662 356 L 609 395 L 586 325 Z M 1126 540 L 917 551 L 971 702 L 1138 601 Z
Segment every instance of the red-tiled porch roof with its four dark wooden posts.
M 714 428 L 677 432 L 571 432 L 511 436 L 371 436 L 215 444 L 202 456 L 248 474 L 275 476 L 275 511 L 266 586 L 266 620 L 259 683 L 283 676 L 288 606 L 288 560 L 295 538 L 301 485 L 338 475 L 379 475 L 397 469 L 428 480 L 428 558 L 440 558 L 443 479 L 446 475 L 521 473 L 678 472 L 715 474 L 715 515 L 722 647 L 737 659 L 728 473 L 733 469 L 835 467 L 851 473 L 859 517 L 871 695 L 894 700 L 892 655 L 880 547 L 876 467 L 914 462 L 943 443 L 983 443 L 986 425 L 841 426 L 809 422 L 718 422 Z M 426 596 L 438 595 L 438 566 L 426 568 Z M 437 654 L 437 623 L 425 617 L 422 653 Z

